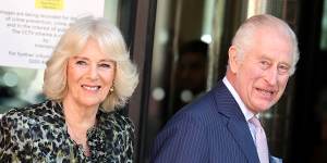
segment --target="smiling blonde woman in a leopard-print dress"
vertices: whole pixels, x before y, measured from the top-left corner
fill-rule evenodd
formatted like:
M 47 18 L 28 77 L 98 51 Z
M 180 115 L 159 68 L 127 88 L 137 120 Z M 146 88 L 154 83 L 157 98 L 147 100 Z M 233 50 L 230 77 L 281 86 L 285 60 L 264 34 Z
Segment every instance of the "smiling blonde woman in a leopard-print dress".
M 0 162 L 133 162 L 133 124 L 119 109 L 137 77 L 117 27 L 77 20 L 47 62 L 49 100 L 1 118 Z

